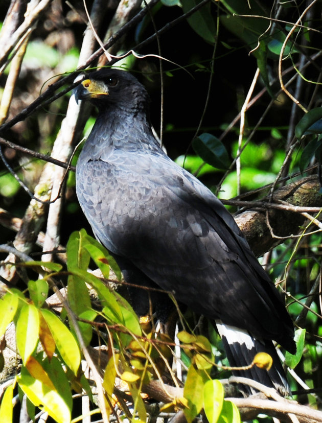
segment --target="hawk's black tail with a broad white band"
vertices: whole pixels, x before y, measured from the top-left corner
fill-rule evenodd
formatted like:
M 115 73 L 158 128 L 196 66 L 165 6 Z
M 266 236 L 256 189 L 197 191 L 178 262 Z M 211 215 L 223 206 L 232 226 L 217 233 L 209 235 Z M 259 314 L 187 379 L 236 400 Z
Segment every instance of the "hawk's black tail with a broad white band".
M 283 396 L 290 395 L 290 387 L 272 341 L 260 341 L 252 338 L 247 331 L 225 325 L 221 321 L 216 321 L 216 325 L 227 359 L 232 367 L 249 365 L 257 353 L 267 353 L 273 360 L 269 370 L 264 370 L 254 365 L 248 370 L 233 370 L 235 376 L 249 378 L 269 388 L 275 388 Z M 240 390 L 245 395 L 257 392 L 254 388 L 246 385 L 240 386 Z

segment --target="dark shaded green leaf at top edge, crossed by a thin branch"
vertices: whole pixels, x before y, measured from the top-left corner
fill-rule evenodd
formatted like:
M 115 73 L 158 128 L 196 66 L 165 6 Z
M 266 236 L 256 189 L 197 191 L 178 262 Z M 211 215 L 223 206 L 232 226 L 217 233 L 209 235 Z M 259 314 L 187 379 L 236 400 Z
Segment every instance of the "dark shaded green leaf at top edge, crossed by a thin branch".
M 181 0 L 184 13 L 197 6 L 201 0 Z M 216 20 L 211 13 L 211 5 L 206 4 L 187 19 L 191 28 L 205 41 L 213 44 L 216 40 Z

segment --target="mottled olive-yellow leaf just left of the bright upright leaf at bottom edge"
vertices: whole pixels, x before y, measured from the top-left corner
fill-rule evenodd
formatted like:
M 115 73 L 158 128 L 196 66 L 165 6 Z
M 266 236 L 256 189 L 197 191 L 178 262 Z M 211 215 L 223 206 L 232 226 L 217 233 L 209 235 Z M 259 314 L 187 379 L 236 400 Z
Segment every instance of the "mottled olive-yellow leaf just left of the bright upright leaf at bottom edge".
M 203 370 L 197 370 L 193 365 L 189 367 L 183 396 L 188 400 L 188 407 L 183 410 L 188 423 L 192 423 L 197 414 L 200 413 L 203 405 L 203 385 L 208 380 Z

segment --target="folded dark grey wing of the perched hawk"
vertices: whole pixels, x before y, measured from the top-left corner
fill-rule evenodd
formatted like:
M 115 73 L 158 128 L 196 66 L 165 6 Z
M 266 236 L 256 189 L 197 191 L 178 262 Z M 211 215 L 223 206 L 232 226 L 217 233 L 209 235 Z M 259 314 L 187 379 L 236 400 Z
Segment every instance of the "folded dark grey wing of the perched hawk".
M 279 340 L 280 318 L 289 318 L 277 291 L 234 219 L 196 178 L 165 155 L 123 151 L 79 173 L 80 203 L 111 252 L 197 312 Z

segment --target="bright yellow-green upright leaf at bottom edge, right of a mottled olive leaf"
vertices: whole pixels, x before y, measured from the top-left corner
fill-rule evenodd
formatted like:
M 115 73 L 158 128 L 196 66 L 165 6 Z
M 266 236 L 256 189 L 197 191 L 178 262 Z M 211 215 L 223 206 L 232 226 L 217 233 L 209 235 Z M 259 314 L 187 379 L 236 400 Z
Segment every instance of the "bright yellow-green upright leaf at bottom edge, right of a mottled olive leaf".
M 209 423 L 216 423 L 224 400 L 224 389 L 218 380 L 207 381 L 203 387 L 203 408 Z

